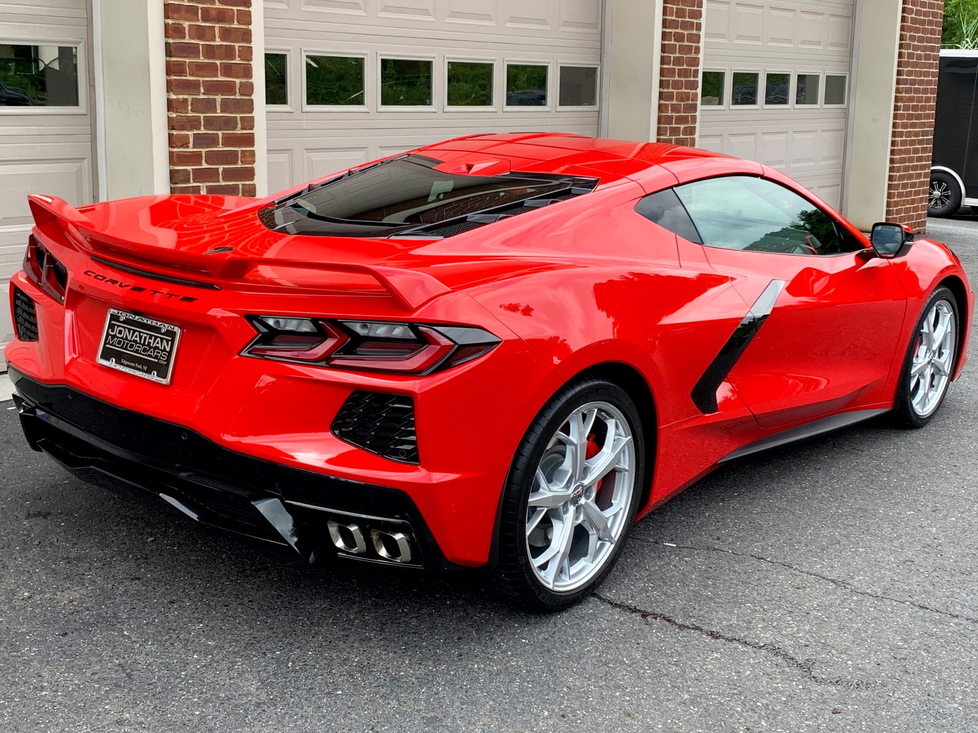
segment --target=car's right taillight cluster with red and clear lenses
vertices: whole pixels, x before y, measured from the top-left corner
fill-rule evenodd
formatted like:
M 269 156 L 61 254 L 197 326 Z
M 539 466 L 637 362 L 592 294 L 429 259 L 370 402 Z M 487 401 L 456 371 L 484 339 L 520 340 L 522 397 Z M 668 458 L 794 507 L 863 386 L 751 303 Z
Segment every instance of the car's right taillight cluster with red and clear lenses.
M 323 367 L 427 374 L 490 351 L 500 339 L 467 325 L 254 316 L 245 356 Z

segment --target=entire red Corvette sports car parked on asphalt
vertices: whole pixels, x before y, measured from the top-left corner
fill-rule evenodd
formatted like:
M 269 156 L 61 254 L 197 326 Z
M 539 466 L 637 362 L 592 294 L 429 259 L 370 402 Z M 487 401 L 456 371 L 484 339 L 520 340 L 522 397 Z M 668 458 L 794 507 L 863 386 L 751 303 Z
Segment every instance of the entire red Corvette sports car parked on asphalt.
M 574 135 L 30 206 L 6 357 L 32 448 L 309 561 L 486 567 L 539 608 L 725 461 L 925 425 L 974 302 L 943 244 L 870 241 L 771 168 Z

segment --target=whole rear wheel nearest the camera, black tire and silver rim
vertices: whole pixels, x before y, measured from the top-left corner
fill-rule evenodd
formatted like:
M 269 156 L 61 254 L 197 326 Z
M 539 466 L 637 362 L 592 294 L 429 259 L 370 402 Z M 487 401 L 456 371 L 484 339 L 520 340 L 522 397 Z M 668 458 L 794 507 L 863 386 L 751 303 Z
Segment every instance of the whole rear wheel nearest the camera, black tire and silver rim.
M 513 456 L 496 587 L 542 611 L 585 598 L 618 560 L 644 483 L 645 441 L 632 399 L 603 379 L 567 384 Z

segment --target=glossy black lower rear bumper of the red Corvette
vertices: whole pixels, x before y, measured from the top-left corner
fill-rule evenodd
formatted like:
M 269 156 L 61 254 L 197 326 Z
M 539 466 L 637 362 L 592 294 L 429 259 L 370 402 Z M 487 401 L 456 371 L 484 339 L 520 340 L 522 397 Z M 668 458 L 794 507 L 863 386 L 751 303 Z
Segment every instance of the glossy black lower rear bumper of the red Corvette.
M 231 451 L 180 425 L 124 410 L 63 385 L 47 385 L 11 367 L 24 436 L 92 484 L 120 484 L 155 495 L 213 527 L 285 547 L 310 562 L 331 556 L 402 567 L 450 569 L 417 505 L 405 492 L 336 478 Z M 337 526 L 355 527 L 365 541 Z M 372 538 L 400 536 L 407 559 L 384 558 Z M 396 544 L 396 539 L 393 542 Z

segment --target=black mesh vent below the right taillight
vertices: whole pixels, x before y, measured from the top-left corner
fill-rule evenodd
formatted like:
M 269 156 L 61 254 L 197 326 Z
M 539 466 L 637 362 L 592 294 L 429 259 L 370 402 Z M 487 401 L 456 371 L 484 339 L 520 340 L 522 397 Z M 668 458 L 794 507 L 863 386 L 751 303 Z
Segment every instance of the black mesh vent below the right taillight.
M 336 413 L 333 435 L 401 463 L 418 463 L 415 403 L 404 395 L 354 392 Z

